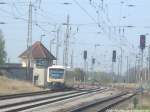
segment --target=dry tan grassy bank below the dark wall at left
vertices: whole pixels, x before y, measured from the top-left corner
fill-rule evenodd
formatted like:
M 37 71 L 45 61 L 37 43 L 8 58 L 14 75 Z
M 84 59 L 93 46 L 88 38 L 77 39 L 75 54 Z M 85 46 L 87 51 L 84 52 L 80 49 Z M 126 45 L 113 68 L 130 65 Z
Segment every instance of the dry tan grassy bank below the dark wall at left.
M 0 76 L 0 95 L 40 90 L 42 89 L 35 87 L 31 83 L 25 81 L 12 80 L 8 79 L 7 77 Z

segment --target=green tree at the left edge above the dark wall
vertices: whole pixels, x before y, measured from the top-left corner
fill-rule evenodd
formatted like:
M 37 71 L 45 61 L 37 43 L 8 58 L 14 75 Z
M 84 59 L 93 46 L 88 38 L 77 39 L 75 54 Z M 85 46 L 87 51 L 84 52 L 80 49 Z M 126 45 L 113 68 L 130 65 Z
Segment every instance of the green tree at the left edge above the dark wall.
M 0 30 L 0 64 L 4 64 L 6 61 L 6 51 L 5 51 L 5 40 L 2 33 L 2 30 Z

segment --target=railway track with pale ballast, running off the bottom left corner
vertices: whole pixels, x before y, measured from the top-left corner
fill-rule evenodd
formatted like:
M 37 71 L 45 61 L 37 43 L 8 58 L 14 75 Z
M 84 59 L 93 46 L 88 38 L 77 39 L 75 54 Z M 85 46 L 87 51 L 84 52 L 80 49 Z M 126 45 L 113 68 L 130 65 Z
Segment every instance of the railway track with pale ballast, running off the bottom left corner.
M 66 99 L 70 99 L 73 97 L 82 96 L 85 94 L 90 94 L 93 92 L 103 91 L 103 90 L 105 90 L 105 89 L 70 91 L 70 92 L 65 92 L 65 93 L 61 93 L 61 94 L 60 93 L 53 94 L 53 95 L 49 94 L 46 96 L 44 93 L 44 96 L 42 96 L 42 97 L 40 97 L 41 95 L 43 95 L 42 93 L 40 95 L 36 94 L 36 95 L 32 95 L 32 96 L 27 94 L 29 99 L 25 95 L 22 95 L 22 97 L 20 97 L 21 95 L 19 95 L 18 97 L 17 96 L 13 97 L 13 98 L 10 97 L 11 98 L 10 102 L 9 102 L 10 99 L 4 100 L 4 98 L 3 98 L 2 100 L 0 100 L 0 103 L 2 103 L 2 105 L 0 105 L 0 112 L 23 111 L 23 110 L 35 108 L 38 106 L 51 104 L 51 103 L 63 101 Z M 36 98 L 32 98 L 33 96 L 36 96 Z M 38 96 L 38 98 L 37 98 L 37 96 Z M 25 97 L 25 99 L 23 99 L 24 97 Z M 26 99 L 28 99 L 28 100 L 26 100 Z

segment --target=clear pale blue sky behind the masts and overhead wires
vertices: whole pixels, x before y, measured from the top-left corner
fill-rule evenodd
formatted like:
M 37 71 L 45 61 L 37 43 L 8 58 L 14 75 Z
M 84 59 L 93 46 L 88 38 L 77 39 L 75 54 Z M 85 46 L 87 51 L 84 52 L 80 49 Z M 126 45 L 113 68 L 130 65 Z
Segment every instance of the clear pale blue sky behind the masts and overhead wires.
M 19 54 L 26 49 L 28 1 L 0 0 L 0 2 L 7 3 L 0 5 L 0 21 L 6 23 L 0 25 L 0 28 L 6 39 L 6 51 L 11 62 L 19 62 Z M 93 56 L 97 58 L 98 70 L 110 71 L 112 50 L 117 50 L 117 56 L 119 56 L 120 45 L 124 51 L 124 69 L 126 56 L 129 56 L 131 66 L 133 66 L 135 54 L 138 53 L 139 35 L 150 32 L 150 1 L 103 0 L 103 4 L 100 1 L 92 0 L 90 4 L 90 0 L 41 0 L 39 5 L 40 0 L 32 0 L 34 7 L 37 8 L 36 11 L 33 9 L 33 43 L 40 40 L 40 36 L 45 34 L 42 42 L 49 49 L 50 40 L 55 38 L 55 33 L 51 31 L 65 23 L 67 14 L 69 14 L 72 28 L 69 53 L 73 49 L 74 66 L 83 67 L 83 50 L 88 50 L 89 65 Z M 64 2 L 71 4 L 63 5 Z M 135 6 L 129 7 L 128 5 L 131 4 Z M 98 24 L 101 27 L 98 27 Z M 122 26 L 129 25 L 135 27 L 125 27 L 123 34 Z M 61 25 L 60 64 L 63 56 L 65 28 L 66 26 Z M 79 31 L 74 35 L 77 28 Z M 148 35 L 147 45 L 149 45 L 149 38 Z M 95 44 L 100 44 L 100 46 L 94 49 Z M 52 48 L 52 53 L 55 55 L 55 44 L 52 45 Z

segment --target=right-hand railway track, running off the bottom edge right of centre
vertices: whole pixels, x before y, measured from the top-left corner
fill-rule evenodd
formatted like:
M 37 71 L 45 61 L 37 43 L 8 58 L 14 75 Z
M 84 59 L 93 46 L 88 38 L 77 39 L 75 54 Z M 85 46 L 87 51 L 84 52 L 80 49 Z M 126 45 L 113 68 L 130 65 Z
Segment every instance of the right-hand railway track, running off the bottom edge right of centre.
M 135 94 L 136 92 L 122 92 L 111 97 L 102 98 L 79 107 L 75 107 L 67 112 L 104 112 L 114 105 L 131 98 Z

